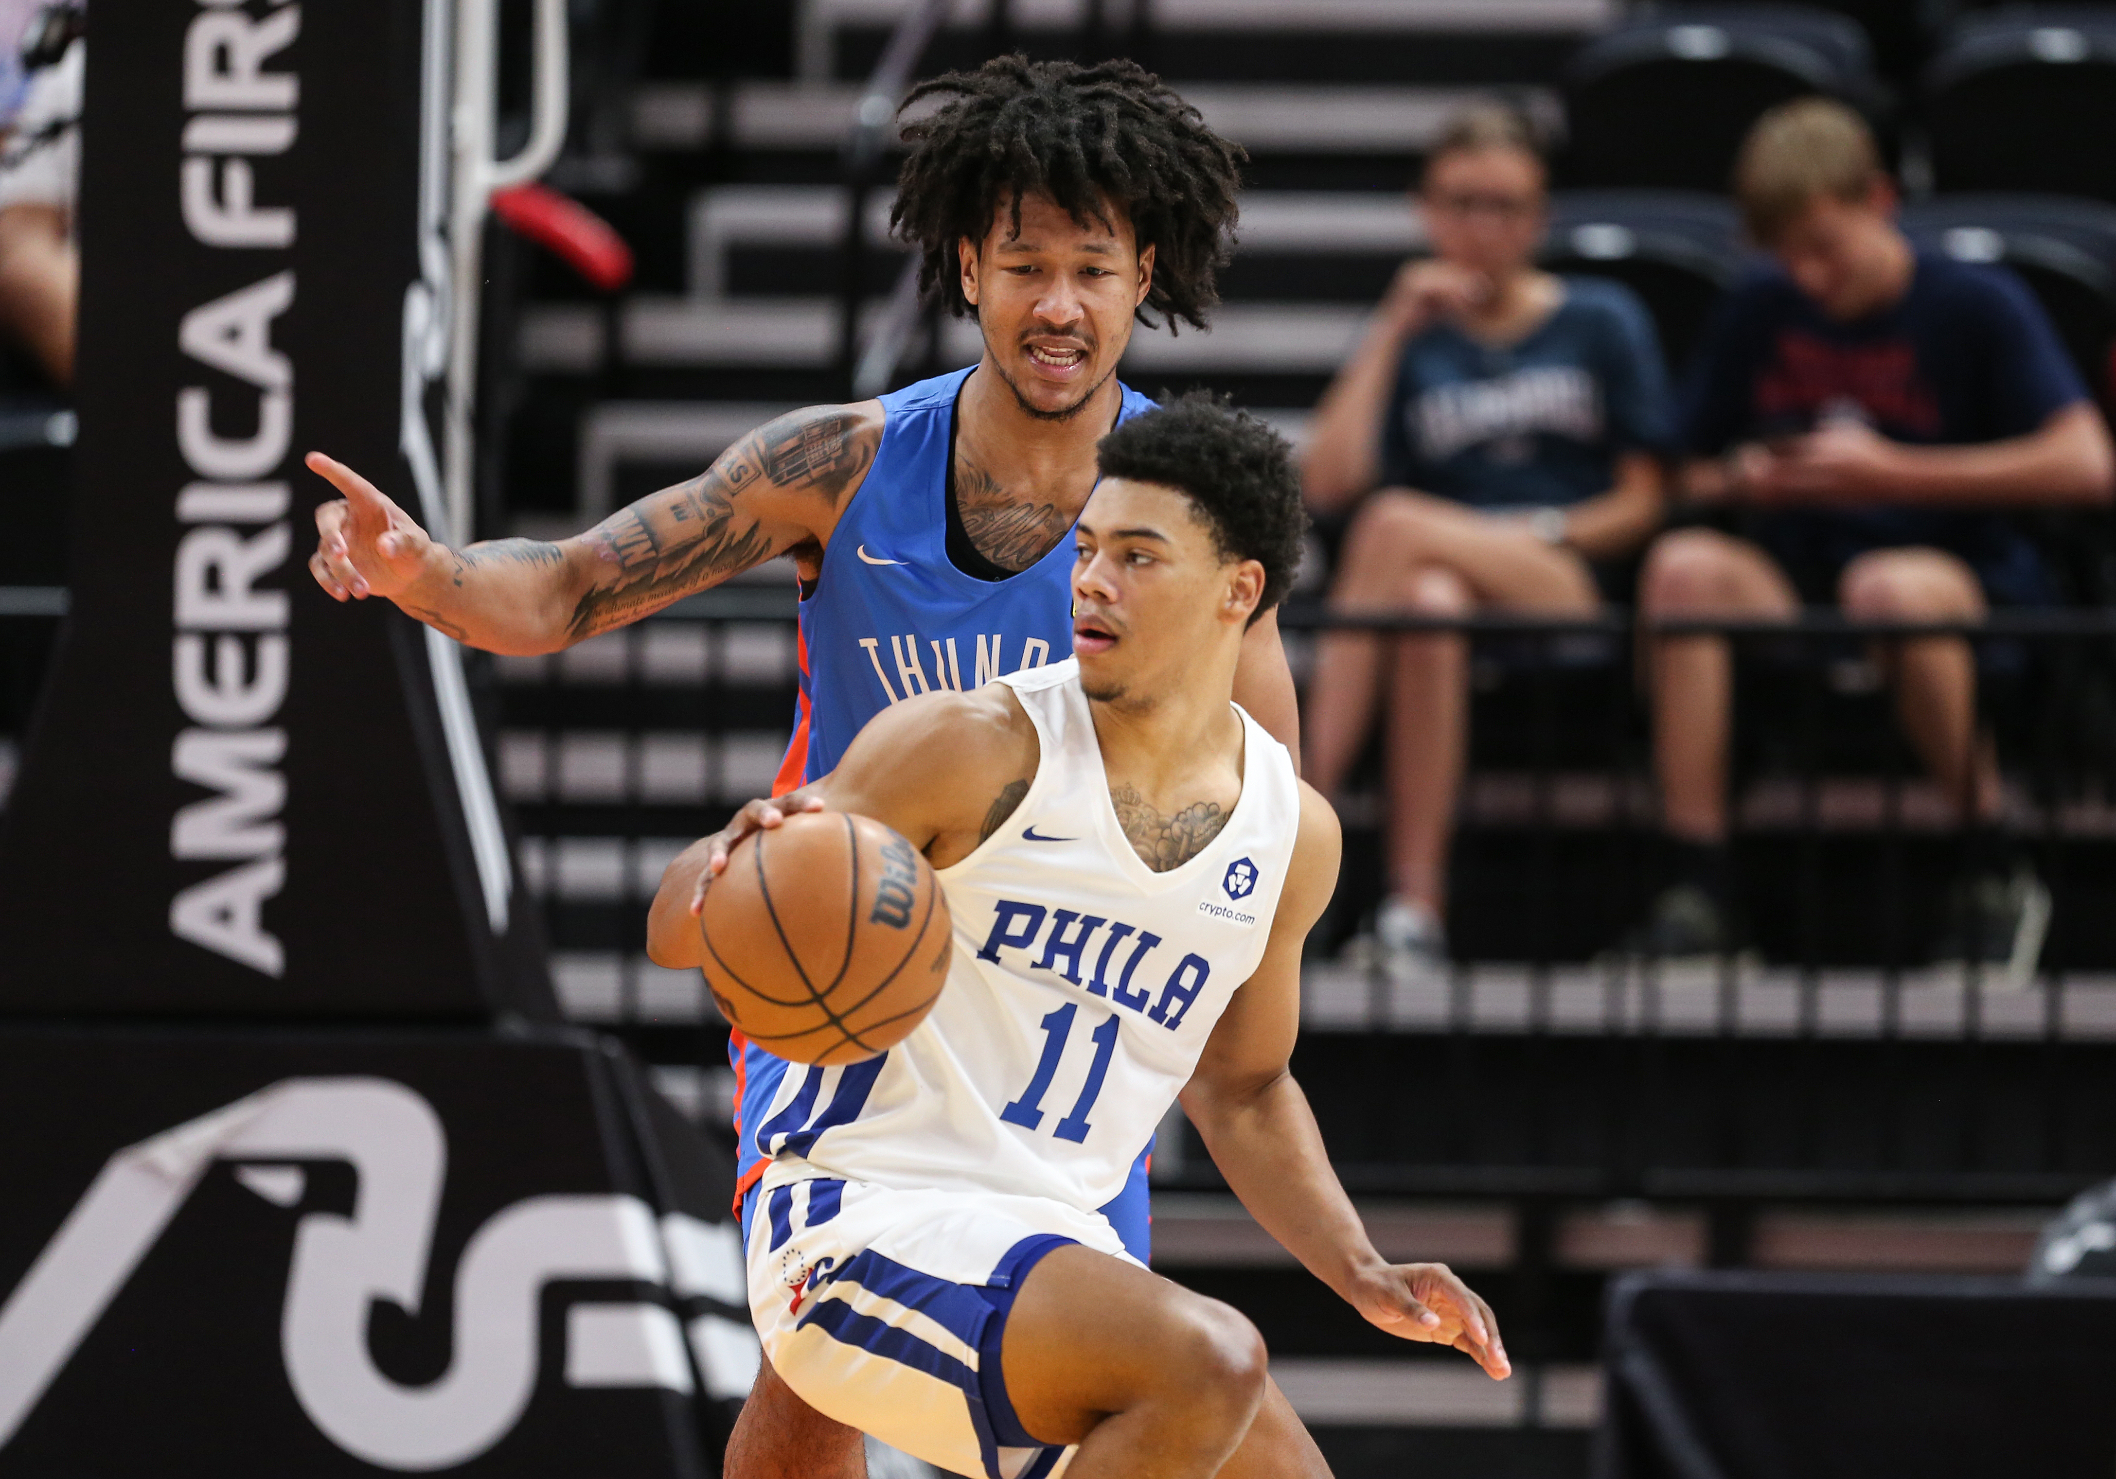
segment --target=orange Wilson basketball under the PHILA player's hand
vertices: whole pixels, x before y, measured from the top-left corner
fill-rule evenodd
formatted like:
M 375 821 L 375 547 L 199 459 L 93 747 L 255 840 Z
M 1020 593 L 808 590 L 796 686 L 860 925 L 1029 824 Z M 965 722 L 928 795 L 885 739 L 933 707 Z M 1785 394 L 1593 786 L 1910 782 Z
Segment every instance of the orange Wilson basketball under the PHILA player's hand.
M 705 984 L 728 1024 L 794 1062 L 859 1062 L 940 997 L 954 927 L 910 842 L 851 812 L 753 832 L 705 891 Z

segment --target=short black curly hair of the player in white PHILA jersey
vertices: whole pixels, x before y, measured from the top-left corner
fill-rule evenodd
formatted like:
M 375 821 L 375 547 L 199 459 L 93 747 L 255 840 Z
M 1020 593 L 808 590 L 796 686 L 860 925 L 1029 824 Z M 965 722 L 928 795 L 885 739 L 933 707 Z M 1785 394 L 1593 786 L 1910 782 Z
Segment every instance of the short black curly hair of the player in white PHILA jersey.
M 1105 478 L 1157 482 L 1189 495 L 1221 559 L 1263 565 L 1263 599 L 1251 624 L 1293 588 L 1308 510 L 1293 446 L 1270 425 L 1210 391 L 1191 391 L 1132 417 L 1094 455 Z

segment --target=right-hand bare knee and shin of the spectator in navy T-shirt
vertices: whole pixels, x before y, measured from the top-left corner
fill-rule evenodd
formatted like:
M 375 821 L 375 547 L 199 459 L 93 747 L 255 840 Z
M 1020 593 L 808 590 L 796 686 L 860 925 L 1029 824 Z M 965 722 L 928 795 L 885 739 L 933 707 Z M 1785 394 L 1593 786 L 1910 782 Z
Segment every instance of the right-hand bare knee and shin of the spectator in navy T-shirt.
M 1875 550 L 1845 567 L 1837 584 L 1845 614 L 1885 622 L 1981 620 L 1976 576 L 1945 550 Z M 1926 770 L 1957 815 L 1998 815 L 1998 762 L 1976 736 L 1976 658 L 1959 637 L 1885 643 L 1881 662 L 1896 683 L 1896 713 Z

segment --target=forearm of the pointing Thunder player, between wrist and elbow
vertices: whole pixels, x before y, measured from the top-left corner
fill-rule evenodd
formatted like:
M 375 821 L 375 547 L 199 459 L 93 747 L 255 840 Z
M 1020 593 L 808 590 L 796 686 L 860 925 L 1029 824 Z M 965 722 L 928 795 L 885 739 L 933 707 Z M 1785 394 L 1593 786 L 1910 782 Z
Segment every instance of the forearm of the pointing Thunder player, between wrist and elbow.
M 531 656 L 565 647 L 565 614 L 584 552 L 544 540 L 427 546 L 425 571 L 396 603 L 470 647 Z

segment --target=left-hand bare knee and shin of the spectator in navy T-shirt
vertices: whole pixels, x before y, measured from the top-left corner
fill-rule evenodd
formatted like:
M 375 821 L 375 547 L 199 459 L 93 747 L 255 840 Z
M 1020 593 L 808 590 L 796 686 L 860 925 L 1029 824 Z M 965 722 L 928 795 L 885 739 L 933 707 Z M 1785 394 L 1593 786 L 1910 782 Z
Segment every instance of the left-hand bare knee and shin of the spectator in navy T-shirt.
M 1638 607 L 1646 622 L 1682 616 L 1792 620 L 1801 597 L 1754 544 L 1712 529 L 1678 529 L 1646 554 Z M 1725 842 L 1729 643 L 1725 637 L 1663 637 L 1650 643 L 1648 664 L 1661 819 L 1686 842 Z

